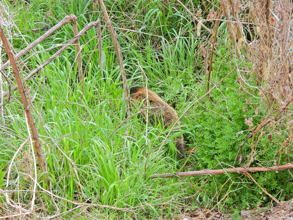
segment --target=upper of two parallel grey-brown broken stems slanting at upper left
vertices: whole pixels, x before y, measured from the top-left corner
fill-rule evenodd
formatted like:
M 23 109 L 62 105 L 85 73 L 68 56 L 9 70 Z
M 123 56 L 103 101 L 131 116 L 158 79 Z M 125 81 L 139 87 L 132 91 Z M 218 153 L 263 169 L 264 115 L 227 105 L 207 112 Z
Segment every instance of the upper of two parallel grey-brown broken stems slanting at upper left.
M 65 16 L 58 24 L 56 24 L 54 27 L 50 28 L 48 31 L 46 31 L 42 36 L 40 36 L 38 39 L 34 40 L 32 43 L 30 43 L 26 48 L 21 50 L 18 54 L 15 55 L 15 58 L 18 59 L 28 53 L 32 48 L 34 48 L 36 45 L 38 45 L 40 42 L 45 40 L 47 37 L 49 37 L 52 33 L 57 31 L 59 28 L 61 28 L 63 25 L 68 24 L 73 19 L 73 15 L 67 15 Z M 9 65 L 9 60 L 5 62 L 1 67 L 0 70 L 4 70 Z

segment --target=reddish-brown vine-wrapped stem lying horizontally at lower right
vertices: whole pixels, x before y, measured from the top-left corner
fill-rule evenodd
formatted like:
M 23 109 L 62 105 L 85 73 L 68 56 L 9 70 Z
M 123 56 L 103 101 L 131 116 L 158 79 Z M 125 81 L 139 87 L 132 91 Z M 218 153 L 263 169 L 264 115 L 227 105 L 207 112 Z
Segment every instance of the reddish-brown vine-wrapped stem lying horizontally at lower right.
M 221 174 L 221 173 L 246 173 L 246 172 L 259 172 L 259 171 L 280 171 L 286 170 L 289 168 L 293 168 L 293 163 L 288 163 L 286 165 L 274 166 L 274 167 L 235 167 L 228 169 L 220 169 L 220 170 L 199 170 L 199 171 L 189 171 L 189 172 L 179 172 L 179 173 L 164 173 L 164 174 L 155 174 L 151 176 L 151 179 L 154 178 L 172 178 L 175 176 L 178 177 L 186 177 L 186 176 L 197 176 L 197 175 L 211 175 L 211 174 Z

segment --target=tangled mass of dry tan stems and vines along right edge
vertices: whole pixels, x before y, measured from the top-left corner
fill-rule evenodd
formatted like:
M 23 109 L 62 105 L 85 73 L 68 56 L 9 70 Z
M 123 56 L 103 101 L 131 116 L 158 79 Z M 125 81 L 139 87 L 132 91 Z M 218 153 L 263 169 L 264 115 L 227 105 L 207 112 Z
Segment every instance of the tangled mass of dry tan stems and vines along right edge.
M 253 126 L 252 118 L 245 119 L 245 123 L 254 133 L 260 132 L 258 140 L 264 134 L 269 136 L 270 139 L 272 135 L 285 135 L 285 137 L 280 138 L 280 158 L 277 163 L 279 165 L 281 152 L 287 153 L 288 150 L 292 152 L 290 145 L 292 144 L 293 126 L 293 5 L 288 0 L 248 1 L 242 6 L 240 4 L 235 5 L 237 9 L 232 15 L 238 14 L 241 9 L 242 12 L 245 9 L 249 15 L 243 16 L 244 13 L 242 13 L 243 17 L 239 21 L 243 21 L 244 30 L 247 30 L 246 38 L 250 38 L 250 43 L 247 45 L 250 49 L 244 52 L 246 52 L 247 60 L 251 63 L 251 68 L 245 67 L 243 71 L 239 70 L 239 81 L 246 81 L 249 87 L 249 78 L 256 78 L 258 86 L 255 89 L 258 89 L 258 95 L 262 98 L 262 107 L 266 109 L 265 120 L 260 125 Z M 245 21 L 246 19 L 248 21 Z M 237 31 L 238 28 L 235 29 L 238 36 L 238 44 L 235 44 L 237 51 L 237 46 L 240 48 L 239 44 L 246 42 L 246 40 L 243 41 L 243 36 L 239 34 L 240 31 Z M 230 37 L 231 35 L 233 34 L 230 34 Z M 245 74 L 246 71 L 247 74 Z M 241 77 L 241 72 L 243 77 Z M 251 76 L 251 73 L 254 73 L 255 78 Z M 257 115 L 258 109 L 255 109 L 254 116 Z M 260 128 L 262 128 L 262 131 L 260 131 Z M 258 141 L 256 143 L 253 143 L 253 141 L 254 139 L 252 139 L 252 149 L 258 143 Z M 251 153 L 252 155 L 253 153 Z

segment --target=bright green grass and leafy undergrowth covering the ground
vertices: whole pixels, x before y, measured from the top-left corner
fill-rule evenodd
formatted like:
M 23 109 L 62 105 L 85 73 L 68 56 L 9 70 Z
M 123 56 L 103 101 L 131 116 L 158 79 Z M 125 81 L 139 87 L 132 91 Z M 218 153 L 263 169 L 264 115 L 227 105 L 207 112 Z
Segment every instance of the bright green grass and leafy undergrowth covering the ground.
M 40 71 L 37 77 L 26 81 L 30 98 L 42 116 L 41 120 L 34 113 L 47 162 L 50 190 L 76 203 L 98 203 L 134 211 L 130 214 L 125 211 L 113 212 L 110 207 L 84 208 L 54 198 L 59 213 L 64 212 L 64 218 L 77 219 L 85 219 L 84 216 L 89 213 L 91 216 L 109 219 L 126 216 L 137 219 L 167 216 L 171 219 L 172 216 L 197 207 L 212 209 L 215 206 L 217 210 L 234 210 L 237 213 L 237 210 L 266 206 L 271 201 L 258 185 L 280 201 L 289 199 L 293 188 L 292 175 L 287 170 L 252 173 L 258 185 L 240 173 L 151 179 L 154 174 L 174 173 L 183 166 L 185 159 L 177 160 L 175 143 L 172 141 L 181 133 L 186 141 L 186 149 L 192 150 L 181 172 L 246 164 L 251 153 L 251 138 L 241 148 L 239 146 L 251 129 L 263 121 L 267 115 L 266 109 L 271 106 L 263 101 L 253 77 L 246 76 L 249 85 L 243 89 L 238 72 L 231 72 L 235 64 L 239 68 L 251 64 L 244 57 L 236 60 L 234 52 L 229 50 L 231 42 L 226 38 L 224 23 L 218 29 L 211 87 L 231 74 L 209 96 L 197 101 L 207 92 L 206 70 L 210 53 L 208 33 L 202 30 L 202 37 L 195 36 L 193 20 L 174 1 L 104 2 L 111 11 L 109 15 L 112 16 L 111 21 L 122 50 L 128 84 L 142 86 L 147 83 L 148 88 L 172 104 L 179 115 L 196 103 L 180 120 L 182 126 L 171 133 L 162 150 L 154 153 L 160 148 L 169 130 L 163 129 L 161 124 L 150 123 L 147 127 L 139 114 L 122 123 L 127 118 L 123 84 L 108 28 L 102 26 L 103 70 L 99 68 L 98 50 L 93 51 L 97 44 L 97 30 L 96 27 L 90 29 L 80 39 L 84 68 L 88 64 L 82 85 L 76 73 L 74 45 Z M 195 8 L 199 7 L 197 1 L 194 4 Z M 92 0 L 17 0 L 9 6 L 9 10 L 13 15 L 10 19 L 16 26 L 6 26 L 6 34 L 11 36 L 16 52 L 45 31 L 42 28 L 37 31 L 32 29 L 44 27 L 47 30 L 65 15 L 75 14 L 78 17 L 79 30 L 87 23 L 102 18 L 97 2 Z M 52 49 L 30 57 L 25 62 L 27 68 L 22 69 L 23 75 L 38 67 L 59 49 L 59 44 L 66 43 L 72 37 L 72 26 L 67 24 L 40 43 L 32 53 Z M 3 49 L 1 60 L 2 64 L 8 60 Z M 5 125 L 2 128 L 7 132 L 0 134 L 0 177 L 3 179 L 0 184 L 5 184 L 0 185 L 1 192 L 18 189 L 17 196 L 13 194 L 14 201 L 26 204 L 33 196 L 34 183 L 27 176 L 34 177 L 29 142 L 16 155 L 6 186 L 11 158 L 28 138 L 18 91 L 12 93 L 11 101 L 4 106 L 4 111 Z M 131 114 L 138 111 L 132 107 Z M 74 165 L 56 148 L 42 121 L 47 132 Z M 122 125 L 108 138 L 120 123 Z M 276 165 L 280 136 L 288 137 L 281 129 L 277 133 L 274 131 L 262 136 L 256 138 L 255 154 L 258 157 L 252 161 L 251 167 Z M 186 153 L 186 157 L 189 153 Z M 280 165 L 289 161 L 292 161 L 291 148 L 282 152 Z M 42 182 L 40 173 L 38 182 Z M 58 214 L 52 197 L 38 190 L 37 187 L 38 200 L 35 206 L 40 208 L 37 212 L 44 215 Z M 0 209 L 2 212 L 13 212 L 7 205 L 3 205 L 6 198 L 1 192 Z M 12 197 L 12 193 L 9 193 L 9 197 Z M 69 211 L 71 209 L 74 211 Z

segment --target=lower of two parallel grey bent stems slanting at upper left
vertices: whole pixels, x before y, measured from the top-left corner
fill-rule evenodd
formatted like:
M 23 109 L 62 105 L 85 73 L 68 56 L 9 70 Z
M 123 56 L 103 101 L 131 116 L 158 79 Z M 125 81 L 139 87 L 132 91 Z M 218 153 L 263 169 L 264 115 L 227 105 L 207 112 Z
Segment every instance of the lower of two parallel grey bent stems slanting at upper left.
M 96 21 L 92 21 L 90 23 L 88 23 L 84 29 L 82 29 L 81 31 L 79 31 L 79 33 L 72 38 L 71 40 L 68 41 L 68 43 L 66 45 L 64 45 L 60 50 L 58 50 L 54 55 L 52 55 L 52 57 L 50 57 L 48 60 L 46 60 L 45 62 L 43 62 L 39 67 L 37 67 L 35 70 L 33 70 L 32 72 L 30 72 L 30 74 L 25 77 L 24 79 L 27 80 L 30 77 L 32 77 L 33 75 L 35 75 L 37 72 L 39 72 L 42 68 L 44 68 L 46 65 L 48 65 L 52 60 L 54 60 L 57 56 L 59 56 L 66 48 L 68 48 L 70 45 L 72 45 L 77 39 L 79 39 L 81 37 L 81 35 L 84 35 L 89 29 L 91 29 L 93 26 L 97 26 L 97 22 Z M 13 86 L 11 88 L 11 92 L 13 90 L 17 89 L 17 86 Z M 6 96 L 8 93 L 6 92 L 6 94 L 4 94 L 4 96 Z

